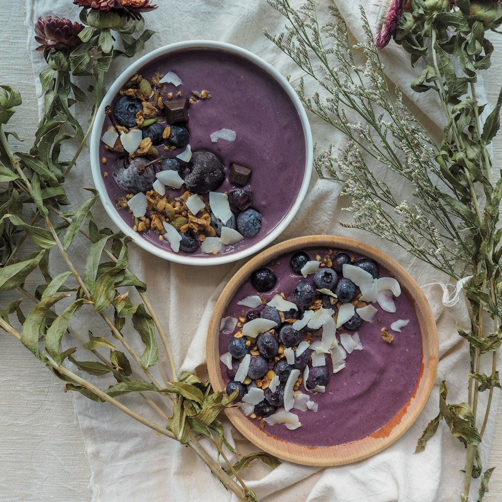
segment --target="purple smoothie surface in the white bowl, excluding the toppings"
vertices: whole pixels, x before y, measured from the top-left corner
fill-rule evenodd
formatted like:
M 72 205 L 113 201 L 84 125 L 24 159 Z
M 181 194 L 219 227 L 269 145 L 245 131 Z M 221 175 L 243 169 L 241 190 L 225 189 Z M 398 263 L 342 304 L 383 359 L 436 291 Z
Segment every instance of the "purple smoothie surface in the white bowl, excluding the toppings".
M 182 98 L 189 98 L 192 91 L 200 92 L 202 89 L 209 90 L 211 94 L 211 98 L 190 106 L 187 128 L 192 152 L 209 150 L 223 161 L 226 179 L 217 191 L 228 193 L 232 189 L 228 181 L 231 163 L 253 170 L 249 180 L 253 191 L 252 207 L 262 213 L 262 228 L 255 237 L 226 246 L 221 253 L 256 244 L 279 224 L 293 206 L 305 173 L 304 133 L 291 98 L 260 67 L 224 50 L 180 50 L 157 58 L 138 73 L 151 79 L 157 72 L 164 75 L 169 71 L 175 72 L 183 83 L 178 87 L 165 84 L 163 95 L 182 91 Z M 164 124 L 165 119 L 161 123 Z M 105 117 L 102 133 L 110 125 L 109 118 Z M 236 140 L 228 142 L 219 139 L 212 143 L 211 133 L 220 129 L 235 131 Z M 180 148 L 166 152 L 162 146 L 158 149 L 166 157 L 176 157 L 184 151 L 184 148 Z M 103 157 L 107 160 L 106 164 L 101 163 L 103 181 L 111 200 L 115 201 L 128 193 L 111 176 L 113 163 L 123 154 L 106 150 L 103 143 L 99 152 L 100 160 Z M 166 195 L 178 197 L 185 190 L 184 185 L 180 190 L 168 187 Z M 207 202 L 207 195 L 205 200 Z M 119 210 L 119 214 L 124 221 L 134 226 L 134 218 L 127 210 Z M 157 247 L 171 249 L 168 242 L 160 241 L 151 230 L 143 233 L 143 236 Z M 199 249 L 193 256 L 212 255 L 205 255 Z

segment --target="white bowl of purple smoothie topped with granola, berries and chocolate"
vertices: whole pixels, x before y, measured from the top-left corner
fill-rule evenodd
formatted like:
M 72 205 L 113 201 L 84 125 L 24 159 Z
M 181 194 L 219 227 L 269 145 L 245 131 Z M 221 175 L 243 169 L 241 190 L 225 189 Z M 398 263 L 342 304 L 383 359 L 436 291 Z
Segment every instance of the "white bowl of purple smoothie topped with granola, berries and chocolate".
M 111 85 L 91 136 L 91 169 L 118 228 L 191 265 L 252 255 L 298 211 L 313 144 L 277 70 L 229 44 L 157 49 Z

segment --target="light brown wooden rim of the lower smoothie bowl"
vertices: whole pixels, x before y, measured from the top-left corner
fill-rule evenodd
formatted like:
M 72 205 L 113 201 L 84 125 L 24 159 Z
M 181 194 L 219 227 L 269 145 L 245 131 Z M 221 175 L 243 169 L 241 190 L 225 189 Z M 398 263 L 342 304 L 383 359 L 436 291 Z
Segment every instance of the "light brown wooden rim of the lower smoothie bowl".
M 215 391 L 225 390 L 220 370 L 218 349 L 219 325 L 230 300 L 238 288 L 256 269 L 285 253 L 309 247 L 326 247 L 347 250 L 382 265 L 401 285 L 415 309 L 422 335 L 422 361 L 418 382 L 408 402 L 376 432 L 361 439 L 333 446 L 304 446 L 270 435 L 250 421 L 239 408 L 228 408 L 225 413 L 235 428 L 249 441 L 279 458 L 303 465 L 341 465 L 369 457 L 390 446 L 414 423 L 427 402 L 434 385 L 438 364 L 438 337 L 436 324 L 429 304 L 412 277 L 394 260 L 362 242 L 344 237 L 316 235 L 298 237 L 266 249 L 246 263 L 228 282 L 222 291 L 209 325 L 207 337 L 207 365 L 209 379 Z

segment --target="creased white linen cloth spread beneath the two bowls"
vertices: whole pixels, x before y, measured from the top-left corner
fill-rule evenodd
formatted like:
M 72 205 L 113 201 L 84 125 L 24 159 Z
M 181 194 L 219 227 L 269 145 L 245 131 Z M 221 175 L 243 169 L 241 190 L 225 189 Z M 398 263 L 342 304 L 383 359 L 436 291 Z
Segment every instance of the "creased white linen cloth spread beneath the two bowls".
M 283 31 L 285 23 L 284 18 L 265 0 L 157 3 L 159 8 L 144 17 L 146 27 L 156 30 L 158 34 L 147 43 L 143 53 L 182 40 L 219 40 L 258 54 L 283 74 L 292 74 L 293 79 L 300 76 L 289 58 L 263 35 L 264 27 L 271 33 L 278 33 Z M 336 0 L 335 3 L 345 16 L 354 39 L 362 39 L 358 3 L 342 0 Z M 46 15 L 77 20 L 79 9 L 71 5 L 69 0 L 27 0 L 26 7 L 28 49 L 40 95 L 38 75 L 46 66 L 41 53 L 34 51 L 34 22 L 39 16 Z M 377 8 L 371 2 L 365 2 L 365 9 L 374 26 Z M 391 44 L 382 51 L 382 58 L 388 77 L 412 99 L 415 109 L 420 110 L 421 119 L 427 121 L 434 133 L 441 131 L 443 117 L 432 93 L 417 95 L 409 88 L 416 72 L 409 65 L 408 55 L 397 45 Z M 108 84 L 113 75 L 129 64 L 130 61 L 126 59 L 116 61 L 107 75 Z M 86 123 L 90 109 L 80 107 L 77 110 L 80 122 Z M 342 144 L 343 138 L 338 137 L 332 129 L 312 116 L 310 119 L 314 139 L 321 148 L 330 142 Z M 69 198 L 74 201 L 75 208 L 88 196 L 82 187 L 93 185 L 88 166 L 88 152 L 84 151 L 66 181 Z M 386 176 L 386 173 L 381 171 L 380 175 Z M 446 276 L 413 259 L 401 249 L 369 233 L 341 227 L 338 223 L 342 216 L 340 210 L 349 203 L 346 198 L 339 197 L 341 188 L 339 184 L 319 180 L 313 174 L 305 203 L 279 240 L 317 233 L 358 238 L 391 254 L 419 285 L 427 285 L 438 279 L 447 282 Z M 404 186 L 403 191 L 406 197 Z M 99 221 L 108 221 L 100 204 L 96 204 L 94 213 Z M 346 214 L 343 217 L 348 218 Z M 84 239 L 74 244 L 72 257 L 75 257 L 77 265 L 84 263 L 87 248 L 88 243 Z M 58 261 L 54 260 L 53 270 L 57 270 L 57 265 Z M 131 268 L 149 285 L 148 296 L 169 336 L 179 370 L 196 371 L 200 376 L 206 374 L 205 339 L 209 318 L 226 281 L 240 265 L 211 268 L 177 265 L 131 246 Z M 262 502 L 449 502 L 459 499 L 463 482 L 460 469 L 464 467 L 465 450 L 451 436 L 445 424 L 440 425 L 438 433 L 424 452 L 416 455 L 413 452 L 425 426 L 438 413 L 439 382 L 447 380 L 449 401 L 466 399 L 468 350 L 467 344 L 456 334 L 454 323 L 456 321 L 468 329 L 469 319 L 464 299 L 446 309 L 441 303 L 442 290 L 439 286 L 424 287 L 424 292 L 437 320 L 441 360 L 435 389 L 416 423 L 383 452 L 347 466 L 322 469 L 284 462 L 270 471 L 255 462 L 252 468 L 244 471 L 243 477 Z M 194 313 L 200 315 L 196 317 Z M 73 323 L 73 327 L 83 334 L 95 323 L 95 319 L 83 311 L 75 319 L 77 322 Z M 96 328 L 97 331 L 99 329 L 102 326 Z M 161 376 L 168 380 L 166 361 L 161 360 L 158 366 Z M 485 396 L 481 396 L 483 398 Z M 495 393 L 493 410 L 496 410 L 497 399 L 498 393 Z M 123 398 L 124 403 L 149 417 L 150 409 L 138 406 L 137 401 L 134 397 Z M 124 417 L 110 406 L 95 404 L 80 395 L 74 396 L 74 403 L 92 471 L 93 502 L 236 500 L 189 448 L 153 434 L 150 429 Z M 227 437 L 233 436 L 239 452 L 256 451 L 256 447 L 250 445 L 228 423 L 225 423 L 225 428 Z M 482 448 L 483 460 L 488 456 L 486 445 L 491 442 L 492 430 L 493 423 L 490 420 L 485 433 L 485 446 Z M 471 496 L 474 497 L 473 494 Z

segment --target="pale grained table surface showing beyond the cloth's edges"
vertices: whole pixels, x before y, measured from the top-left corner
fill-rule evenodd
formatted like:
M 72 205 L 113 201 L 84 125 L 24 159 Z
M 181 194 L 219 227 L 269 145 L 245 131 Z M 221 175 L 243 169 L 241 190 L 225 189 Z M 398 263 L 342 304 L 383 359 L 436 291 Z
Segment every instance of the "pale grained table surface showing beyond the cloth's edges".
M 25 8 L 19 2 L 3 2 L 2 8 L 2 19 L 9 24 L 0 32 L 0 83 L 15 86 L 24 98 L 8 129 L 29 138 L 36 129 L 37 105 L 26 47 Z M 502 39 L 492 38 L 498 49 L 487 82 L 488 98 L 493 103 L 502 81 Z M 501 154 L 498 140 L 495 158 Z M 63 393 L 62 382 L 4 332 L 0 333 L 0 353 L 0 502 L 89 502 L 90 468 L 75 422 L 72 395 Z M 502 404 L 497 411 L 490 458 L 483 468 L 497 465 L 502 465 Z M 484 502 L 498 502 L 502 468 L 495 469 L 489 487 Z

